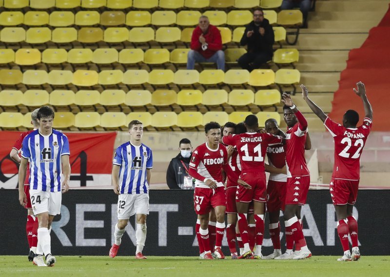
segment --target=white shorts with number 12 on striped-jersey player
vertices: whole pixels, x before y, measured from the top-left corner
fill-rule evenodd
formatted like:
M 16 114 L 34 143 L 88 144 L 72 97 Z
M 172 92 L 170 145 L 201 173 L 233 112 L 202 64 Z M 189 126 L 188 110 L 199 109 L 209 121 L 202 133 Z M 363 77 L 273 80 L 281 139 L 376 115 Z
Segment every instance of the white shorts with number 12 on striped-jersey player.
M 149 215 L 149 194 L 121 194 L 117 208 L 118 219 L 129 219 L 135 214 Z

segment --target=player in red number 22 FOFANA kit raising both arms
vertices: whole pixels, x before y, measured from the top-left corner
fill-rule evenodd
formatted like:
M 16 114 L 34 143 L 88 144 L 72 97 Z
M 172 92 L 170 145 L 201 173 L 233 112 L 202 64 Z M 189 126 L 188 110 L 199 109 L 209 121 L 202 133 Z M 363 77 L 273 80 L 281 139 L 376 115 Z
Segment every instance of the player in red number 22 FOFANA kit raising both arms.
M 338 220 L 337 233 L 343 246 L 344 256 L 338 261 L 358 260 L 360 251 L 357 238 L 357 221 L 352 216 L 353 205 L 356 202 L 360 178 L 360 155 L 366 145 L 372 126 L 372 108 L 366 96 L 366 88 L 362 82 L 356 83 L 355 94 L 362 99 L 364 111 L 363 125 L 356 127 L 359 114 L 348 110 L 343 116 L 343 125 L 332 121 L 308 97 L 308 90 L 301 85 L 303 99 L 308 103 L 313 113 L 323 122 L 334 140 L 334 166 L 330 183 L 331 198 Z M 348 241 L 352 241 L 352 254 Z

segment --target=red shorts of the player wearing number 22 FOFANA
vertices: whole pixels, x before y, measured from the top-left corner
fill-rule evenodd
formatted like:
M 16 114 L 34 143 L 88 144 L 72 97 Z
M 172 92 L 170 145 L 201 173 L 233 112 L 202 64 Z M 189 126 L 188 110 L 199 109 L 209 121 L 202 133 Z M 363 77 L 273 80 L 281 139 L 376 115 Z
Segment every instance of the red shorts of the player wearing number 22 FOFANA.
M 332 178 L 329 189 L 333 205 L 353 205 L 356 202 L 359 181 Z

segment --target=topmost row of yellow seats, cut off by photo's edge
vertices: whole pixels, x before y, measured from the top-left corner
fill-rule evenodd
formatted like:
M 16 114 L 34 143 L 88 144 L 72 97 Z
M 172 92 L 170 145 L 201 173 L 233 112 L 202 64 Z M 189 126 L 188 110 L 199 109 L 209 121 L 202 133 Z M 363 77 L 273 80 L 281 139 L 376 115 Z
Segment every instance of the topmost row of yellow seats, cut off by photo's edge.
M 20 9 L 30 7 L 33 9 L 73 9 L 82 7 L 96 9 L 107 7 L 109 9 L 152 9 L 160 7 L 163 9 L 187 8 L 239 8 L 249 9 L 262 7 L 272 9 L 280 7 L 282 0 L 0 0 L 0 7 L 8 9 Z

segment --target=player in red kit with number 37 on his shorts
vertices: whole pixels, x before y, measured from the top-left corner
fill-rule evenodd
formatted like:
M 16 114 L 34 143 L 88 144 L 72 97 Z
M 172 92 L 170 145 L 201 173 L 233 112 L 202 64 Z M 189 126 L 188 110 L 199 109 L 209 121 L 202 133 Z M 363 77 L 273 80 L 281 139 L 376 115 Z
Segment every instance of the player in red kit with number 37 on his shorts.
M 226 194 L 222 166 L 228 162 L 226 147 L 219 143 L 221 126 L 217 122 L 205 125 L 207 142 L 194 150 L 189 174 L 194 177 L 194 208 L 200 219 L 199 233 L 201 235 L 205 259 L 213 259 L 209 242 L 209 213 L 213 207 L 216 215 L 215 249 L 217 258 L 225 258 L 222 253 L 222 239 L 225 233 Z

